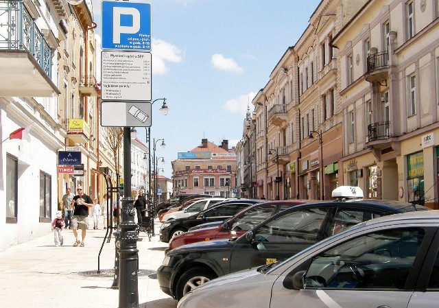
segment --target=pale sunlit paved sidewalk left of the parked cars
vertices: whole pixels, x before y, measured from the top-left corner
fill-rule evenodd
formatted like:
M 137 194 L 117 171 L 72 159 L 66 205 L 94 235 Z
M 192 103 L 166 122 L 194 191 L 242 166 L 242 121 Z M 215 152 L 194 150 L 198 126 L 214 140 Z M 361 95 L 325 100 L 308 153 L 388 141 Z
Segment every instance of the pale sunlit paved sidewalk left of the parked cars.
M 89 219 L 93 225 L 91 217 Z M 137 241 L 141 308 L 176 307 L 176 301 L 158 287 L 155 275 L 167 247 L 158 239 L 160 224 L 156 220 L 156 236 L 151 241 L 146 233 L 140 233 Z M 63 231 L 64 246 L 54 246 L 51 232 L 0 252 L 1 307 L 119 307 L 119 290 L 111 288 L 114 237 L 102 248 L 99 262 L 102 274 L 97 274 L 98 254 L 106 231 L 87 230 L 84 247 L 73 247 L 75 237 L 72 230 L 67 229 Z

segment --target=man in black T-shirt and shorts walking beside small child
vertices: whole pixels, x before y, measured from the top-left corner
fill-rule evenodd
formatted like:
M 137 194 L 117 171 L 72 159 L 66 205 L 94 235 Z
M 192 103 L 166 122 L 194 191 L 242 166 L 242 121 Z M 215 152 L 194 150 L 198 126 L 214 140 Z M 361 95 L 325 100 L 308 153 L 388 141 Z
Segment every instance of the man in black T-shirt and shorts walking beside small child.
M 84 193 L 82 186 L 78 186 L 76 189 L 78 195 L 73 197 L 71 206 L 73 207 L 73 217 L 72 217 L 72 229 L 73 235 L 75 235 L 74 247 L 80 246 L 84 247 L 84 240 L 86 236 L 86 231 L 88 229 L 88 208 L 93 206 L 93 201 L 90 196 Z M 78 239 L 78 229 L 81 230 L 82 241 Z

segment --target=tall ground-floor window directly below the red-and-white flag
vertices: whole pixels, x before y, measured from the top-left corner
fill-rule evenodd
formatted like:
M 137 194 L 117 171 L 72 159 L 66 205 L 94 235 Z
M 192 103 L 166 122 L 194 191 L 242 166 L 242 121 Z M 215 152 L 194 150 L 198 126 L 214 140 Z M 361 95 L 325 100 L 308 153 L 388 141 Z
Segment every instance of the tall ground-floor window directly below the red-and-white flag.
M 6 222 L 17 220 L 17 199 L 19 186 L 19 161 L 6 154 Z

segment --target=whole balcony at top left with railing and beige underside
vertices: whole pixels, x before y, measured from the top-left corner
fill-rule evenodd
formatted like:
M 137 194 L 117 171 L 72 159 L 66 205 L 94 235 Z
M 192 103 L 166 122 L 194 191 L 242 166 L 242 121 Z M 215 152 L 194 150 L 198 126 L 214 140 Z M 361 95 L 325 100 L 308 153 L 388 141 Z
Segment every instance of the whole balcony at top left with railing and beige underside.
M 0 0 L 0 93 L 51 97 L 52 55 L 58 45 L 49 29 L 38 29 L 22 1 Z

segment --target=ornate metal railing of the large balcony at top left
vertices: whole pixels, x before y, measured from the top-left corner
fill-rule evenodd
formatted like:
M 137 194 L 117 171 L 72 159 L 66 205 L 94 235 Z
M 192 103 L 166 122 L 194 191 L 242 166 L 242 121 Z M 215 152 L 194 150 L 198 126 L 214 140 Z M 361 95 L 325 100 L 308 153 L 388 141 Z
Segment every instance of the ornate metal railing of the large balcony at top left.
M 0 0 L 0 50 L 28 51 L 51 78 L 52 49 L 22 1 Z

